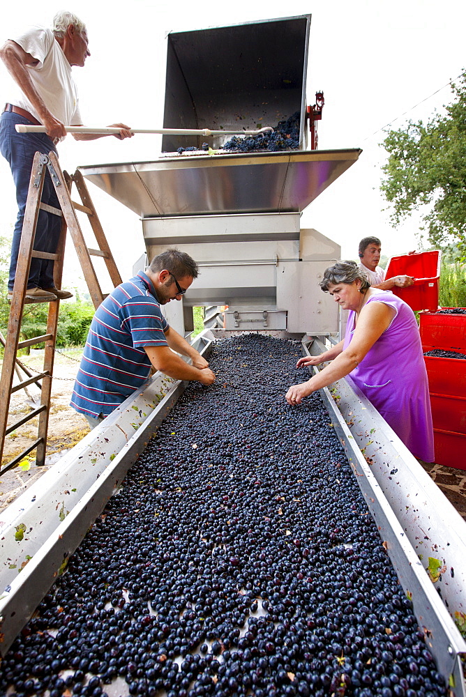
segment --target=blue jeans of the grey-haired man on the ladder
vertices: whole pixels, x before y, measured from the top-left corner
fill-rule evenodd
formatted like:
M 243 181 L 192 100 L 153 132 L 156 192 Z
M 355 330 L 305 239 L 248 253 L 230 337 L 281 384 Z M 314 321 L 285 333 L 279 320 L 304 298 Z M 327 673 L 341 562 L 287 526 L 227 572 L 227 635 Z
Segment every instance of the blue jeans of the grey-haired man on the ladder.
M 48 155 L 50 151 L 57 153 L 53 142 L 45 133 L 17 133 L 16 123 L 31 125 L 24 116 L 3 112 L 0 119 L 0 152 L 10 165 L 13 181 L 16 186 L 16 201 L 18 204 L 18 216 L 13 231 L 13 243 L 11 245 L 10 277 L 8 279 L 8 291 L 13 291 L 15 283 L 16 265 L 20 251 L 22 224 L 24 210 L 26 209 L 27 192 L 34 155 L 37 151 Z M 42 202 L 60 208 L 57 194 L 55 193 L 52 179 L 47 171 L 44 179 Z M 57 252 L 61 229 L 61 217 L 46 210 L 39 210 L 34 249 L 38 252 Z M 29 269 L 28 288 L 51 288 L 54 286 L 54 263 L 50 259 L 31 259 Z

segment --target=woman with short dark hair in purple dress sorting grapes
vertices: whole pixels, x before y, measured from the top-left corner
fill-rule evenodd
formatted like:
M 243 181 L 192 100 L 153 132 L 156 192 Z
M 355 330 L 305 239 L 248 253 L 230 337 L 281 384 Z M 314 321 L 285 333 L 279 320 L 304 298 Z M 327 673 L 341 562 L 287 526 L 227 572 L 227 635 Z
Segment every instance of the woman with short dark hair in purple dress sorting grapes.
M 350 375 L 412 454 L 432 462 L 427 372 L 412 309 L 390 291 L 371 287 L 354 261 L 327 268 L 320 287 L 350 310 L 346 336 L 321 355 L 299 359 L 298 367 L 331 363 L 306 383 L 292 385 L 288 404 L 301 404 L 303 397 Z

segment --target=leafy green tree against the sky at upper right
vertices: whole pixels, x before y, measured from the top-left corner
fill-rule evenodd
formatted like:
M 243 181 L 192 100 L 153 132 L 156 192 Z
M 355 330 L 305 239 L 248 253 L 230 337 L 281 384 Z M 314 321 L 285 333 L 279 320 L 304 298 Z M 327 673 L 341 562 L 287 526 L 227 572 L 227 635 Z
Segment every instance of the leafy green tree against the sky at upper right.
M 388 132 L 381 190 L 393 207 L 393 224 L 427 206 L 422 220 L 429 243 L 465 259 L 466 73 L 451 88 L 454 100 L 446 114 Z

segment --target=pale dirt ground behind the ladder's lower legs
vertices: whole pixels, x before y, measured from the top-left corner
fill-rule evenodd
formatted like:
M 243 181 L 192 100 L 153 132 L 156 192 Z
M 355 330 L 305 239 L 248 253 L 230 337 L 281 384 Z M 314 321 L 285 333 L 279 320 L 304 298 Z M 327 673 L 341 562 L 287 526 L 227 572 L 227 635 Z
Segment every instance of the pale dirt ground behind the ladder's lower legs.
M 16 466 L 0 477 L 0 510 L 5 508 L 17 496 L 20 495 L 33 481 L 54 464 L 63 452 L 78 443 L 81 438 L 89 433 L 89 424 L 84 416 L 78 414 L 69 406 L 71 392 L 77 369 L 80 365 L 82 349 L 60 351 L 55 355 L 54 379 L 52 381 L 52 401 L 50 404 L 50 418 L 47 438 L 47 457 L 45 466 L 37 467 L 35 464 L 35 451 L 28 457 L 31 458 L 31 466 L 25 471 Z M 31 355 L 20 357 L 21 362 L 32 372 L 40 371 L 43 367 L 43 351 L 31 351 Z M 22 374 L 22 379 L 25 376 Z M 18 382 L 15 376 L 14 384 Z M 27 388 L 29 396 L 24 390 L 14 392 L 10 401 L 8 425 L 21 418 L 33 408 L 34 398 L 40 396 L 38 387 L 33 384 Z M 2 466 L 13 457 L 23 452 L 37 438 L 38 418 L 24 424 L 5 438 L 3 447 Z

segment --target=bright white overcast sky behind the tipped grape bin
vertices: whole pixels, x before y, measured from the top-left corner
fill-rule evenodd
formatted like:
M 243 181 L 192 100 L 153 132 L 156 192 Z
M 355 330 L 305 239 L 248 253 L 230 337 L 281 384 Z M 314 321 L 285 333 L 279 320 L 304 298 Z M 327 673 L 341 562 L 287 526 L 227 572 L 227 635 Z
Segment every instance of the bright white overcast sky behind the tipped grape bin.
M 451 101 L 451 89 L 444 86 L 466 68 L 464 0 L 133 0 L 120 7 L 95 0 L 63 6 L 50 0 L 22 0 L 16 7 L 20 10 L 14 5 L 2 9 L 1 43 L 27 24 L 50 26 L 60 9 L 82 18 L 91 57 L 84 68 L 73 68 L 73 73 L 84 123 L 98 126 L 123 121 L 134 128 L 162 125 L 167 31 L 312 14 L 307 96 L 308 104 L 313 104 L 315 91 L 324 91 L 319 147 L 357 147 L 363 153 L 359 162 L 308 206 L 301 227 L 315 227 L 336 240 L 343 257 L 355 258 L 359 239 L 369 234 L 382 238 L 382 252 L 388 256 L 416 247 L 418 221 L 393 229 L 388 212 L 382 210 L 382 127 L 393 123 L 393 128 L 399 128 L 408 118 L 426 120 Z M 10 79 L 3 66 L 0 91 L 2 103 L 10 100 Z M 139 135 L 124 142 L 108 137 L 77 143 L 68 136 L 59 151 L 63 169 L 74 171 L 78 164 L 155 158 L 160 137 Z M 0 234 L 4 234 L 12 229 L 16 208 L 13 182 L 3 158 L 0 187 Z M 96 187 L 91 186 L 91 195 L 121 274 L 127 277 L 133 261 L 144 251 L 141 223 Z

